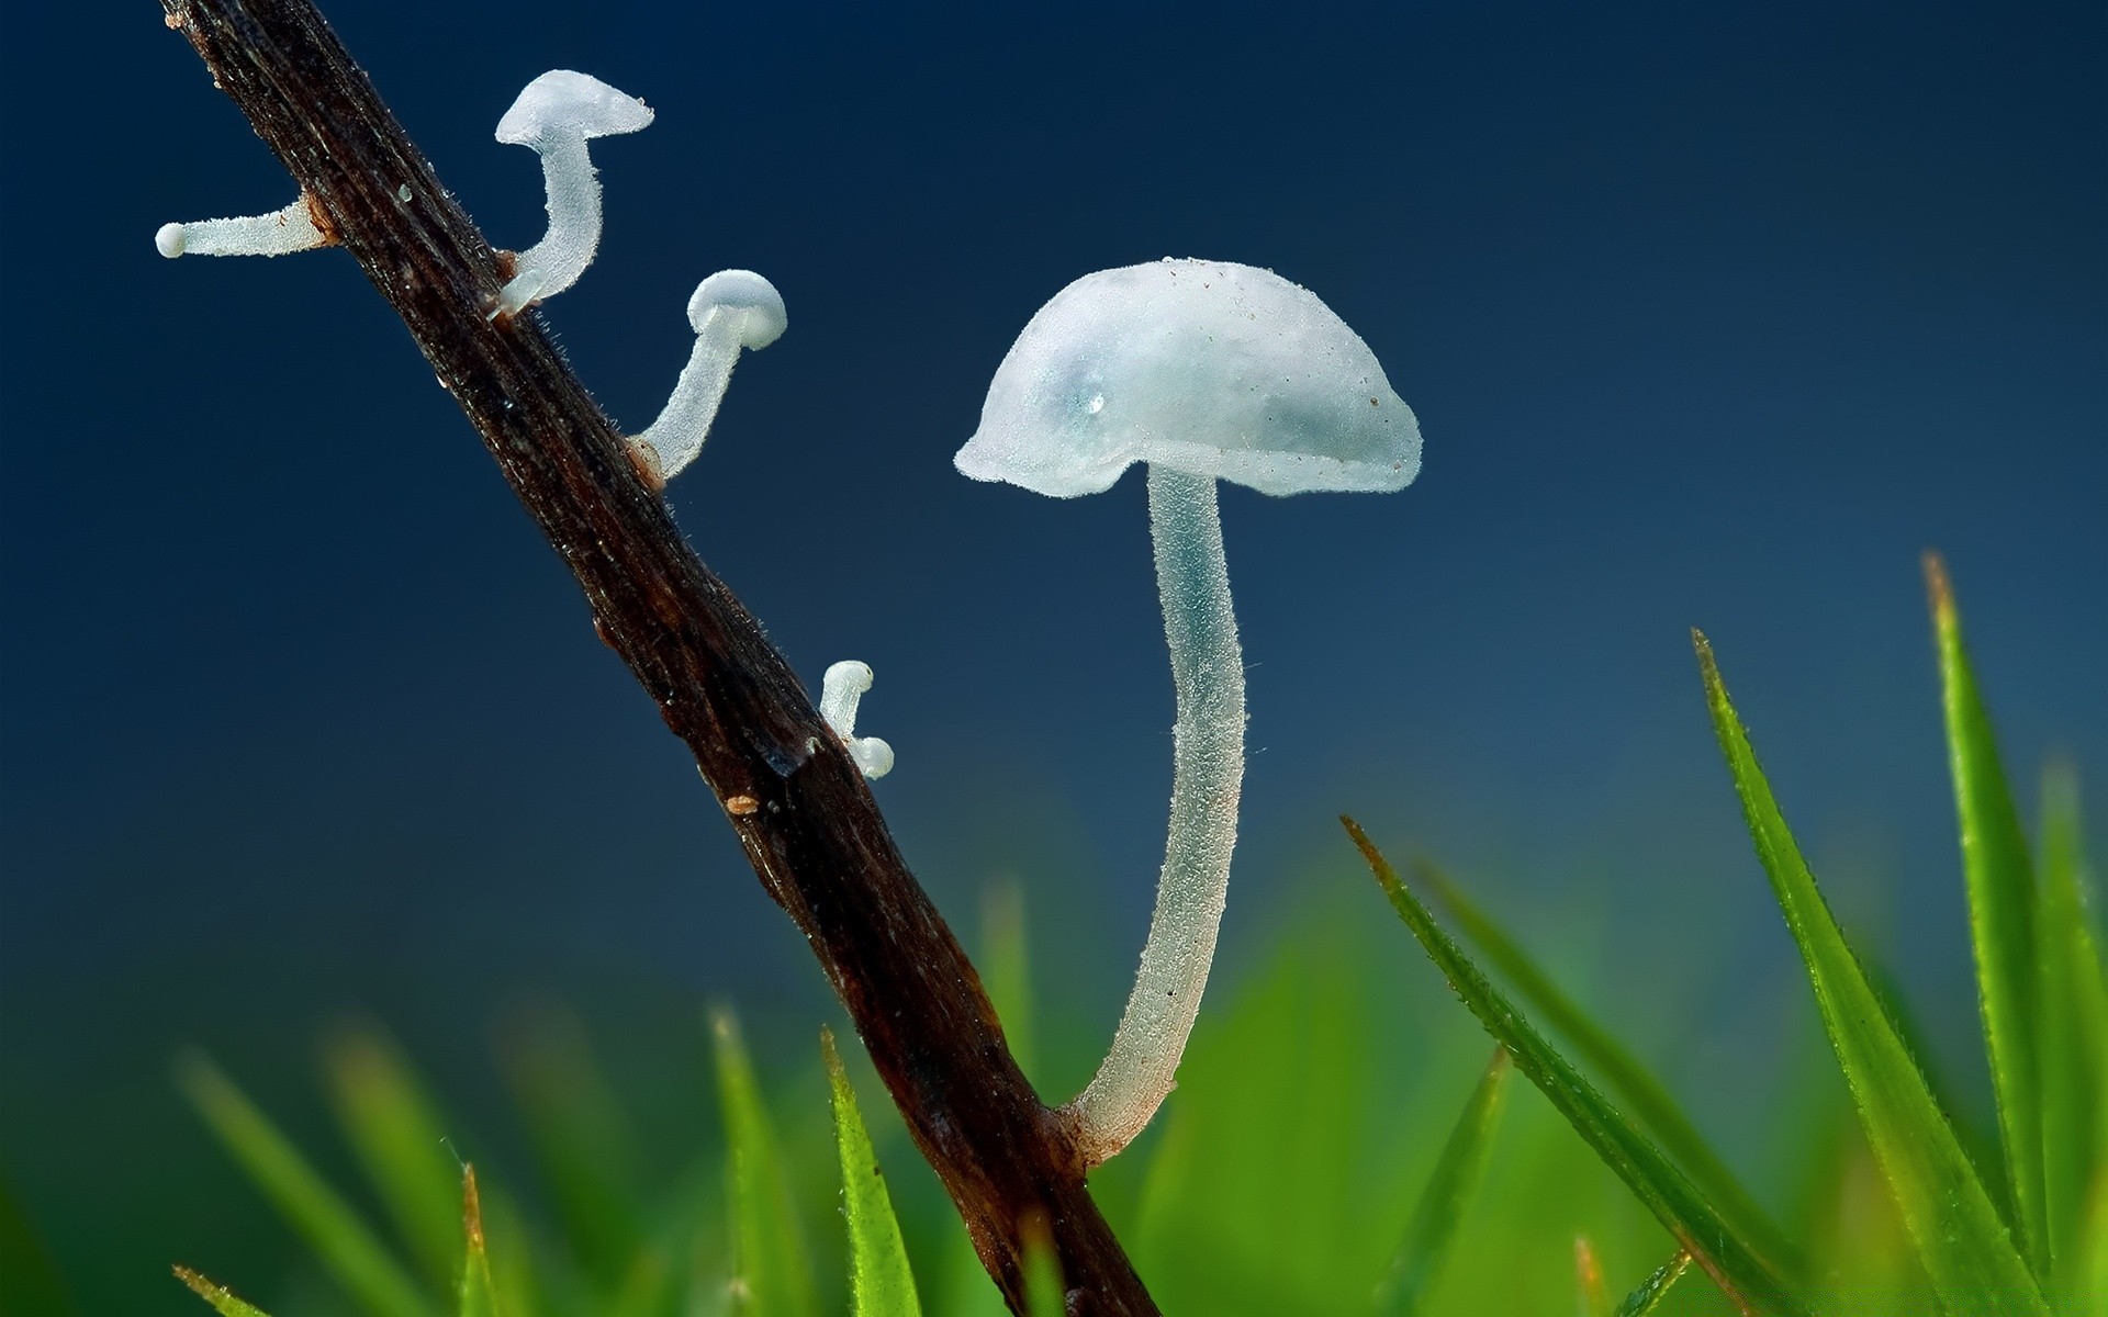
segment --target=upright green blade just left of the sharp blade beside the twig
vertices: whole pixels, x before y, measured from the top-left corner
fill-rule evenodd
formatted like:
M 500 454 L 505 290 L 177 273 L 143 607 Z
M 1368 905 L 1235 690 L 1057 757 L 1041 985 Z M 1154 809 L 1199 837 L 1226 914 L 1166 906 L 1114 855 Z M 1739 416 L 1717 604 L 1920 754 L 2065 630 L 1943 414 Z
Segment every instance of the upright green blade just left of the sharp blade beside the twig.
M 731 1011 L 713 1018 L 717 1037 L 717 1092 L 725 1108 L 725 1146 L 731 1153 L 731 1220 L 738 1279 L 753 1317 L 818 1317 L 812 1258 L 790 1199 L 790 1180 L 776 1132 L 761 1104 L 755 1064 L 740 1041 Z

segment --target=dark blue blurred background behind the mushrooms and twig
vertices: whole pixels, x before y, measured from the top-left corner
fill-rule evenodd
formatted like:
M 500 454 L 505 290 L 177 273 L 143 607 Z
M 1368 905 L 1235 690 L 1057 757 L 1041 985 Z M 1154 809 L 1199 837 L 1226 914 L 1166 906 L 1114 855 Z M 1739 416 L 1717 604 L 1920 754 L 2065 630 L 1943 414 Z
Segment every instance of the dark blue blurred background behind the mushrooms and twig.
M 1916 554 L 2026 797 L 2051 752 L 2108 775 L 2100 4 L 327 8 L 500 244 L 542 232 L 491 141 L 531 76 L 658 110 L 597 145 L 607 236 L 548 325 L 641 428 L 696 280 L 782 289 L 677 514 L 812 681 L 875 666 L 909 856 L 963 923 L 1020 874 L 1088 1028 L 1170 782 L 1143 491 L 951 453 L 1056 289 L 1206 255 L 1315 289 L 1427 436 L 1400 495 L 1225 493 L 1229 965 L 1307 889 L 1360 898 L 1351 809 L 1598 946 L 1642 1037 L 1804 1009 L 1697 624 L 1979 1083 Z M 727 997 L 803 1056 L 809 957 L 352 261 L 154 255 L 291 196 L 188 44 L 143 2 L 8 25 L 0 1159 L 76 1269 L 139 1241 L 82 1296 L 183 1311 L 139 1277 L 261 1216 L 175 1106 L 179 1043 L 295 1113 L 346 1005 L 470 1094 L 523 995 L 616 1003 L 616 1049 Z M 1678 933 L 1648 961 L 1619 927 Z

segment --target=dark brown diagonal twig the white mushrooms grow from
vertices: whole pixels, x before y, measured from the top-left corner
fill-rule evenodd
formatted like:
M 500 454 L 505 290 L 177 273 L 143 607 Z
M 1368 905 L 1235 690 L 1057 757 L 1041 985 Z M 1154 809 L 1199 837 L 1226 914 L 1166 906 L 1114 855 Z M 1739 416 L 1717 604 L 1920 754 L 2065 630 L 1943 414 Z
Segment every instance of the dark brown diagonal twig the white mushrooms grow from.
M 776 904 L 812 942 L 989 1275 L 1022 1313 L 1046 1231 L 1071 1313 L 1155 1313 L 1018 1073 L 974 965 L 862 775 L 740 601 L 675 531 L 535 318 L 489 320 L 497 255 L 308 0 L 164 0 L 341 247 L 403 316 L 563 554 L 601 638 L 687 742 Z M 1037 1222 L 1037 1224 L 1029 1224 Z

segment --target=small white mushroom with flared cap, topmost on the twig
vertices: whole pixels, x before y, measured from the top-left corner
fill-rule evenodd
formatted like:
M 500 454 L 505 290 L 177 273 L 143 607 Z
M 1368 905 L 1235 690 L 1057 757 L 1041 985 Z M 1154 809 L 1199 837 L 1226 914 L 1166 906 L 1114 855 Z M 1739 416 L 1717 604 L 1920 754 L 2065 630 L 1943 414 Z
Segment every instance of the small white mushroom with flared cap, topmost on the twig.
M 533 148 L 548 190 L 548 234 L 514 257 L 512 280 L 497 295 L 495 316 L 554 297 L 586 272 L 601 247 L 601 179 L 586 143 L 635 133 L 651 107 L 588 74 L 550 70 L 521 91 L 497 120 L 497 141 Z

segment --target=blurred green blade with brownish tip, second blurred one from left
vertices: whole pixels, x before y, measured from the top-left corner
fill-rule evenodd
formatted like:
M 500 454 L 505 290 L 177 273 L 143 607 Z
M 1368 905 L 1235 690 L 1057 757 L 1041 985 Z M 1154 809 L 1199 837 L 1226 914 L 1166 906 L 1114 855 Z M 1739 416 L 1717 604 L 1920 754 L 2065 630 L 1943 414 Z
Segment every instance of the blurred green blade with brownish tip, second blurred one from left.
M 348 1026 L 323 1047 L 329 1096 L 358 1165 L 432 1287 L 455 1277 L 462 1167 L 403 1054 L 373 1026 Z

